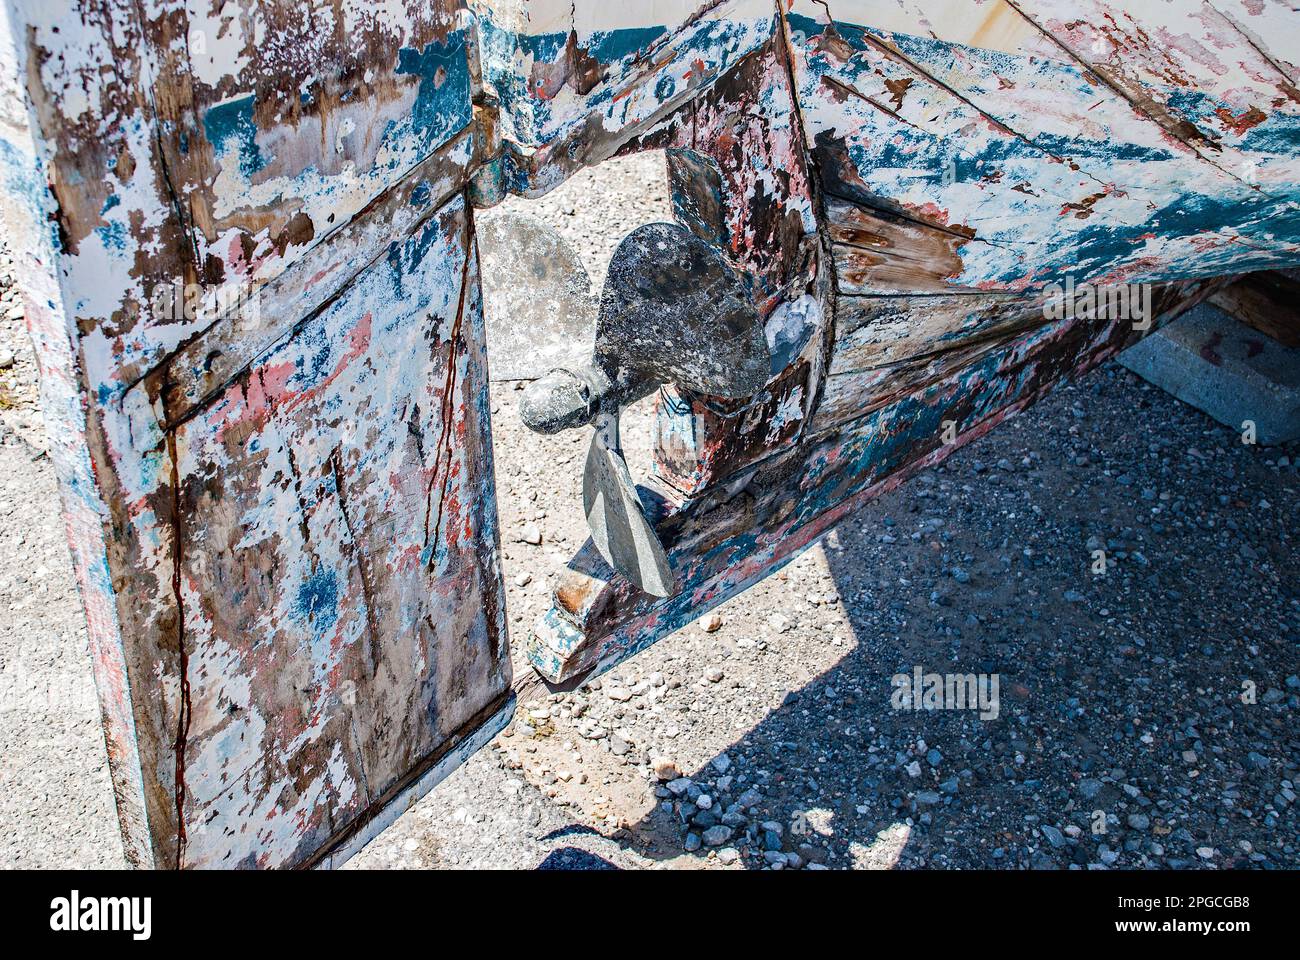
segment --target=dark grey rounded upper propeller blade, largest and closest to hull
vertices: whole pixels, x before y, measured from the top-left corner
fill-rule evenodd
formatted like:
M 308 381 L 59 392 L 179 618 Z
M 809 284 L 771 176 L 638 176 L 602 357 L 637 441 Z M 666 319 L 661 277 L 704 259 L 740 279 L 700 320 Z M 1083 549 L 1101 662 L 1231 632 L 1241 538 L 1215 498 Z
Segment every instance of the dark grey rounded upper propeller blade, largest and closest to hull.
M 750 397 L 771 373 L 767 337 L 740 273 L 677 224 L 619 243 L 601 294 L 595 351 L 656 382 Z

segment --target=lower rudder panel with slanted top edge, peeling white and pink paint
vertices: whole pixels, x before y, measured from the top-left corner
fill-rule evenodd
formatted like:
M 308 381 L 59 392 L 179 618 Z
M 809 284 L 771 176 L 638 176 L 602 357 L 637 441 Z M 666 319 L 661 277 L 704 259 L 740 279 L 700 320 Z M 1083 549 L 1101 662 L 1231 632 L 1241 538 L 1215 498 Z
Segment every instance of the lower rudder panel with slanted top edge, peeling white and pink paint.
M 467 228 L 455 200 L 177 429 L 186 866 L 312 859 L 508 688 Z

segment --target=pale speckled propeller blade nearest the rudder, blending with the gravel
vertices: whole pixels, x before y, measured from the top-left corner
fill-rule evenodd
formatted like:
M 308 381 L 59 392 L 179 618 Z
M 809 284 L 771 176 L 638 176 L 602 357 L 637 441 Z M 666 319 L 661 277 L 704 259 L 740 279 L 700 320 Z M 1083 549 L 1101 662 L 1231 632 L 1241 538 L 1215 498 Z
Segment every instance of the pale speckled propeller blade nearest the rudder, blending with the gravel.
M 536 380 L 589 362 L 597 298 L 569 242 L 515 212 L 481 216 L 476 233 L 491 379 Z

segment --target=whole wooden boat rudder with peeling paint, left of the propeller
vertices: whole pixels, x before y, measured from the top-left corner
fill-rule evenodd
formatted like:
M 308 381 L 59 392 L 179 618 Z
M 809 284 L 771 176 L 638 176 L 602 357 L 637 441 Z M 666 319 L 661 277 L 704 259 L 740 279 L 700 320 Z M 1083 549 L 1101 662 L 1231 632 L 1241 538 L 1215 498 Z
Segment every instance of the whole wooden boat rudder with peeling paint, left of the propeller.
M 0 194 L 127 859 L 355 844 L 508 684 L 460 4 L 4 0 L 0 25 Z M 153 308 L 186 285 L 198 311 Z M 396 555 L 426 515 L 429 555 Z

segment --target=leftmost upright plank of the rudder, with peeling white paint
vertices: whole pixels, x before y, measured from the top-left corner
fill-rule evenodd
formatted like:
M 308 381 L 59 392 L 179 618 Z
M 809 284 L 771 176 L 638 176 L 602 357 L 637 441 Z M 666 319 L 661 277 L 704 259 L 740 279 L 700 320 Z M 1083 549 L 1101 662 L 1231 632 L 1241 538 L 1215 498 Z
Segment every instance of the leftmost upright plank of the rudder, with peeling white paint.
M 40 364 L 42 406 L 104 718 L 129 862 L 166 862 L 174 835 L 165 679 L 176 670 L 169 464 L 156 418 L 124 397 L 140 358 L 183 324 L 140 304 L 182 273 L 165 182 L 143 104 L 151 70 L 138 9 L 105 4 L 77 29 L 57 4 L 14 3 L 0 18 L 8 103 L 0 144 L 5 228 Z M 100 65 L 112 64 L 112 70 Z M 116 198 L 109 203 L 109 198 Z M 122 241 L 122 242 L 118 242 Z M 136 250 L 148 251 L 136 259 Z M 146 360 L 147 362 L 147 360 Z

